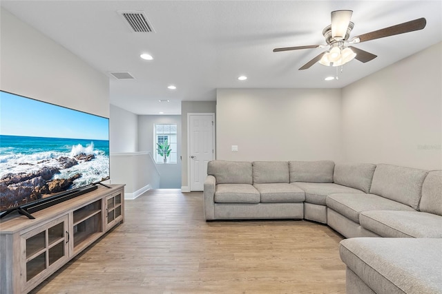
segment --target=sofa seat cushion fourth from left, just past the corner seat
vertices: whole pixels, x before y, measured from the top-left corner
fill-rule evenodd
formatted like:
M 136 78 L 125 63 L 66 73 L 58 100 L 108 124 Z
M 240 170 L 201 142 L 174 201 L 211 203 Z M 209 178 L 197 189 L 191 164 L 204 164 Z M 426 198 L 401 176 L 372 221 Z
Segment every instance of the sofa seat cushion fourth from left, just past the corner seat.
M 343 193 L 327 196 L 327 207 L 359 223 L 359 213 L 368 210 L 415 211 L 411 207 L 374 194 Z

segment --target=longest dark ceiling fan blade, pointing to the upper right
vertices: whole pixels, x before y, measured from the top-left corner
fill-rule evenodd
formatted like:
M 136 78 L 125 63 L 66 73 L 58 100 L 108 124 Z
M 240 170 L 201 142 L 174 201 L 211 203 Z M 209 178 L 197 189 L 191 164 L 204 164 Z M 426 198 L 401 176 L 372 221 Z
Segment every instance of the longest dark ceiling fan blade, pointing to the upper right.
M 392 25 L 388 28 L 383 28 L 381 30 L 375 30 L 373 32 L 367 32 L 367 34 L 361 34 L 352 39 L 354 43 L 362 43 L 365 41 L 370 41 L 374 39 L 384 38 L 385 36 L 394 36 L 395 34 L 403 34 L 405 32 L 413 32 L 415 30 L 422 30 L 425 28 L 427 20 L 425 18 L 414 19 L 414 21 L 407 21 L 405 23 L 400 23 L 398 25 Z M 357 41 L 359 40 L 359 41 Z

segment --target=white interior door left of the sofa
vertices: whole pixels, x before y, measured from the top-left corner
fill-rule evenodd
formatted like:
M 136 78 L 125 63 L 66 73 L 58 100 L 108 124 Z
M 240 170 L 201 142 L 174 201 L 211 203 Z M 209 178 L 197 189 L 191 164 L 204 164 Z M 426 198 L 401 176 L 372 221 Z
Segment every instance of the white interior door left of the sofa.
M 215 114 L 189 114 L 191 191 L 203 191 L 207 162 L 215 159 Z

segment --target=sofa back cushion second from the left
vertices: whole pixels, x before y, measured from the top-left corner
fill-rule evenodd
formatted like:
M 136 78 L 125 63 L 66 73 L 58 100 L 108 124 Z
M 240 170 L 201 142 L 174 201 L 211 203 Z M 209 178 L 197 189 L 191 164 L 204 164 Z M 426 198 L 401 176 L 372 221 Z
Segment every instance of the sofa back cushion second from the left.
M 289 182 L 289 162 L 253 161 L 253 184 Z

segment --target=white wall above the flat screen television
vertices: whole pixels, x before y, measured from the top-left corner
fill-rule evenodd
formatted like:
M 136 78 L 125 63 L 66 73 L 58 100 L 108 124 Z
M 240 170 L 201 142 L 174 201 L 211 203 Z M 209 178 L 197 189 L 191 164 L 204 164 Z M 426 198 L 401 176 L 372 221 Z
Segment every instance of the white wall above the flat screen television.
M 0 88 L 109 117 L 109 79 L 0 8 Z

